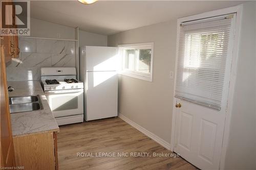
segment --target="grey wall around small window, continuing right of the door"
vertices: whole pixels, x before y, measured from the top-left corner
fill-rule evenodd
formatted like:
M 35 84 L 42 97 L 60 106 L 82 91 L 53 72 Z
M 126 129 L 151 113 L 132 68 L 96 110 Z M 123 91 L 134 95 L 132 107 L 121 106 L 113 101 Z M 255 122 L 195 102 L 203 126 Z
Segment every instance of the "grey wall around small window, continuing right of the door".
M 256 169 L 256 2 L 244 4 L 238 77 L 234 91 L 225 169 Z M 108 36 L 108 45 L 154 42 L 153 82 L 119 76 L 119 112 L 170 142 L 177 21 Z

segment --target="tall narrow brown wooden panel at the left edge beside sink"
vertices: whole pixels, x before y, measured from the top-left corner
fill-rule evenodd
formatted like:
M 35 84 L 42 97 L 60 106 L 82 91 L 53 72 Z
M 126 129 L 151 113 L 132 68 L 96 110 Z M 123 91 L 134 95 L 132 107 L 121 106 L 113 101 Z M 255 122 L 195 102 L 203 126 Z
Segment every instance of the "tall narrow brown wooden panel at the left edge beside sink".
M 11 115 L 9 110 L 8 90 L 6 81 L 6 66 L 5 66 L 5 48 L 3 37 L 1 37 L 1 69 L 0 69 L 0 167 L 13 167 L 14 150 L 13 150 L 13 138 L 11 128 Z

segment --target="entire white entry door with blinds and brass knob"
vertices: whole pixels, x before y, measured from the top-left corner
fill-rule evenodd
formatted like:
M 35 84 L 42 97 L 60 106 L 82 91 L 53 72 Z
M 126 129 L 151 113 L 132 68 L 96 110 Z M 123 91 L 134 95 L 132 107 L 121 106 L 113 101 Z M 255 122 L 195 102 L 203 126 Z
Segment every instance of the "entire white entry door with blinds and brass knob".
M 175 78 L 174 152 L 219 169 L 236 14 L 181 23 Z

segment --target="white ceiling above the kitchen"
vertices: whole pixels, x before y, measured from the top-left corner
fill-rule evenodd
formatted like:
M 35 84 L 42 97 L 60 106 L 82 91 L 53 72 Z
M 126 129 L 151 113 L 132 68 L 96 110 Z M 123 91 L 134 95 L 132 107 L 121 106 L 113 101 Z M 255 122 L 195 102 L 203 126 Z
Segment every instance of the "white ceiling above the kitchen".
M 31 16 L 69 27 L 111 35 L 154 23 L 236 6 L 245 1 L 31 1 Z

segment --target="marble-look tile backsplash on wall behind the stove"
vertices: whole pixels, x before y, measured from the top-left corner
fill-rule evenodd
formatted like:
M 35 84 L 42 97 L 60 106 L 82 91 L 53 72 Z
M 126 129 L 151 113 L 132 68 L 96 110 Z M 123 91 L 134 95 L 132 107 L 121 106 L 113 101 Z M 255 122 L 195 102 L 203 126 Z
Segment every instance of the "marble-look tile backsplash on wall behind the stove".
M 40 67 L 75 67 L 75 41 L 18 38 L 20 54 L 7 66 L 8 81 L 40 79 Z

